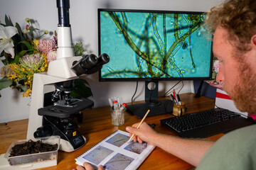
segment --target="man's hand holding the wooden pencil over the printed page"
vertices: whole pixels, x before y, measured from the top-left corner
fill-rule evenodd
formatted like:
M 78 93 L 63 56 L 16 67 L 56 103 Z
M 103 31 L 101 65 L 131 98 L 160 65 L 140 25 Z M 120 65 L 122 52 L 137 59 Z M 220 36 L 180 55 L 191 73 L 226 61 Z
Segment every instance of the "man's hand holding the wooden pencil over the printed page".
M 135 123 L 132 125 L 132 127 L 127 127 L 126 130 L 129 132 L 129 136 L 132 136 L 134 134 L 133 140 L 134 142 L 148 142 L 150 145 L 155 145 L 156 137 L 158 133 L 154 131 L 149 125 L 147 125 L 145 122 L 140 125 L 139 129 L 137 129 L 137 126 L 139 123 Z

